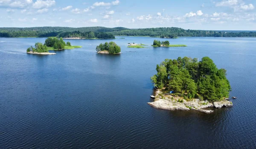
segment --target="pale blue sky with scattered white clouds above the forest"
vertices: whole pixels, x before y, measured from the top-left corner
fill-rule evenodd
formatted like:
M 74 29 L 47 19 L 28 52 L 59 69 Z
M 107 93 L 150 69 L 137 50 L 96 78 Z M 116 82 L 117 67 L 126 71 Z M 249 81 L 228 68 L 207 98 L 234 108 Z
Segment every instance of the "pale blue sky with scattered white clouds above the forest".
M 256 30 L 256 0 L 0 0 L 0 27 Z

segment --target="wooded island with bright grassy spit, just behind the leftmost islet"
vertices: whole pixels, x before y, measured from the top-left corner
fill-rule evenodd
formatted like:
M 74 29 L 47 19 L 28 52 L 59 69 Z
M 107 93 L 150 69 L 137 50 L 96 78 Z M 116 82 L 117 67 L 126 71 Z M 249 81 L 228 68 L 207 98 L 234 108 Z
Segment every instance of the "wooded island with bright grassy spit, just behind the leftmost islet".
M 71 46 L 70 42 L 65 43 L 62 37 L 49 37 L 44 43 L 48 50 L 64 50 L 64 49 L 75 49 L 81 48 L 82 46 Z

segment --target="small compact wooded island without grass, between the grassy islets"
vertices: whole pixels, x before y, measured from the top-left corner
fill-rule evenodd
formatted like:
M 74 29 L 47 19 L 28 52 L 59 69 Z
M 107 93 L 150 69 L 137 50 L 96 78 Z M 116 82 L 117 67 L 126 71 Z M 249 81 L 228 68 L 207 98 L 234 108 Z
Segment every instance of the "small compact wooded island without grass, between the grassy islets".
M 99 46 L 96 47 L 97 53 L 102 54 L 120 54 L 121 48 L 118 46 L 115 42 L 105 42 L 105 44 L 99 44 Z

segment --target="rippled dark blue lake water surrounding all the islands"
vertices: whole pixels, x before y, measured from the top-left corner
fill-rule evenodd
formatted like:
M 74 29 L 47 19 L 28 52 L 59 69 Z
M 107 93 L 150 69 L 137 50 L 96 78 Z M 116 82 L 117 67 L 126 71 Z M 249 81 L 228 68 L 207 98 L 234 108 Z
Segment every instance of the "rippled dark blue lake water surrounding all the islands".
M 26 49 L 45 38 L 0 38 L 0 148 L 255 148 L 256 38 L 126 46 L 154 39 L 113 40 L 119 55 L 96 54 L 96 45 L 111 40 L 65 40 L 83 48 L 31 55 Z M 205 114 L 147 104 L 156 64 L 184 56 L 209 56 L 227 69 L 233 107 Z

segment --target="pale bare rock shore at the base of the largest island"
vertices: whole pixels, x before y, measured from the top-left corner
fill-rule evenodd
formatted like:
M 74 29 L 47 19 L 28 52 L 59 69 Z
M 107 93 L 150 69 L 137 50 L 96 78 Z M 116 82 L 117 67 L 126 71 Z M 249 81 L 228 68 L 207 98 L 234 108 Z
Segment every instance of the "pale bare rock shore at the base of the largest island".
M 222 108 L 233 106 L 233 103 L 227 100 L 217 101 L 213 103 L 209 102 L 208 100 L 200 101 L 199 99 L 193 99 L 192 101 L 183 100 L 182 102 L 179 102 L 182 100 L 180 97 L 164 95 L 163 92 L 161 92 L 160 90 L 157 90 L 155 94 L 156 98 L 154 102 L 148 104 L 156 109 L 185 111 L 196 110 L 204 113 L 212 113 L 214 112 L 213 110 L 206 108 Z

